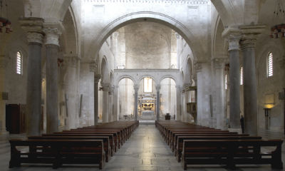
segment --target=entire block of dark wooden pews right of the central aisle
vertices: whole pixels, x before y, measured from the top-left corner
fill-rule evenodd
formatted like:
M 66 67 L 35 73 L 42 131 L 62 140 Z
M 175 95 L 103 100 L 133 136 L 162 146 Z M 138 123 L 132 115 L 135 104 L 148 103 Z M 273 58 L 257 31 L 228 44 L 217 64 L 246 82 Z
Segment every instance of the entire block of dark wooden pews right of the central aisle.
M 283 140 L 262 140 L 258 136 L 232 133 L 175 120 L 155 122 L 160 134 L 175 153 L 177 161 L 187 165 L 270 164 L 283 169 L 281 145 Z M 268 151 L 274 147 L 273 151 Z M 265 151 L 264 151 L 265 150 Z

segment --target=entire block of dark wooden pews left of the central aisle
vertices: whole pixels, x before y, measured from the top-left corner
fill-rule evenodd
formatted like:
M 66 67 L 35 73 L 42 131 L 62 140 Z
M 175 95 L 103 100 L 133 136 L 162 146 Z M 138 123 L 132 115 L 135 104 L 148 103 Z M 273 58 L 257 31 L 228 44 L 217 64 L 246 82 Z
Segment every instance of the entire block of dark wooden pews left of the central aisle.
M 138 121 L 116 121 L 29 136 L 25 140 L 10 140 L 9 167 L 19 167 L 21 163 L 44 163 L 56 169 L 63 164 L 96 164 L 102 169 L 135 128 L 138 128 Z

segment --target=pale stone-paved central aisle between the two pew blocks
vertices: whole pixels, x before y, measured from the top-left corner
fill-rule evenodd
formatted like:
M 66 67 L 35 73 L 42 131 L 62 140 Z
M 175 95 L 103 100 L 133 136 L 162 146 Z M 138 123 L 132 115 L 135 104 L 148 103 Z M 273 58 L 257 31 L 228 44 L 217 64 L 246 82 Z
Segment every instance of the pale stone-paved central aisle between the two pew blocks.
M 183 170 L 155 125 L 140 125 L 104 170 Z

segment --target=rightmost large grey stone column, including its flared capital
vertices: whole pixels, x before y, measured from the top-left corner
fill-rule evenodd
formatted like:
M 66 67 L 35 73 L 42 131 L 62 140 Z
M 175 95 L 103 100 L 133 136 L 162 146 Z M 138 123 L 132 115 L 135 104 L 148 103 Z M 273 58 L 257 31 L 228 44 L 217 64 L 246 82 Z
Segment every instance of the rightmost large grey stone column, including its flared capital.
M 257 78 L 254 47 L 265 26 L 241 26 L 244 67 L 244 133 L 257 135 Z

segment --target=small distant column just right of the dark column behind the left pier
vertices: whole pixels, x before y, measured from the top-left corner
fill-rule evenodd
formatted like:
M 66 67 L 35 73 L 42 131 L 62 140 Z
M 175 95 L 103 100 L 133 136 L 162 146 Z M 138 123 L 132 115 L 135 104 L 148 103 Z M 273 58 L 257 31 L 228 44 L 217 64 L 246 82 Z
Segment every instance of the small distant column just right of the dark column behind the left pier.
M 109 83 L 101 83 L 103 87 L 103 110 L 102 110 L 102 123 L 108 123 L 108 95 L 109 95 Z

